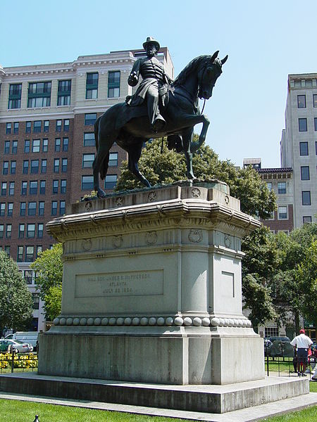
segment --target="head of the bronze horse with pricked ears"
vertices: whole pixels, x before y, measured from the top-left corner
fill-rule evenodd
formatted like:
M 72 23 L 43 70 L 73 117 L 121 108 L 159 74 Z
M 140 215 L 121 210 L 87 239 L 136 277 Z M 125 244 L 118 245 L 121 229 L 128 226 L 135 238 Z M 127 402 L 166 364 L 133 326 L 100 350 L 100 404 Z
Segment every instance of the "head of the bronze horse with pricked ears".
M 213 53 L 213 56 L 208 56 L 206 58 L 205 64 L 201 67 L 198 73 L 198 85 L 199 98 L 204 98 L 208 100 L 213 94 L 213 87 L 216 84 L 216 80 L 222 73 L 222 66 L 228 59 L 228 56 L 225 56 L 220 60 L 218 56 L 219 51 Z

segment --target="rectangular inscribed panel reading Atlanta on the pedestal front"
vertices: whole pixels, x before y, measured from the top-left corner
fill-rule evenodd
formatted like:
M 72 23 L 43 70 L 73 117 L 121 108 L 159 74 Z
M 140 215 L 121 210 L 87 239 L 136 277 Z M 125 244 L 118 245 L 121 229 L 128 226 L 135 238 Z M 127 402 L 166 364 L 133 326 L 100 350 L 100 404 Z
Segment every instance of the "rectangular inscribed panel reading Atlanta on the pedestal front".
M 163 269 L 75 276 L 75 298 L 163 295 Z

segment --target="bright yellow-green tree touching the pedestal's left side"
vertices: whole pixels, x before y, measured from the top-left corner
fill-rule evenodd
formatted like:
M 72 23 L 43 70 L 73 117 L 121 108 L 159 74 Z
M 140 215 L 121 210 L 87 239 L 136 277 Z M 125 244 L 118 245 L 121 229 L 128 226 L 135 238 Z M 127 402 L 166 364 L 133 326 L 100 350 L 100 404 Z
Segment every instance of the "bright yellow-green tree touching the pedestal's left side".
M 42 252 L 30 267 L 37 271 L 37 286 L 44 300 L 46 319 L 52 321 L 61 312 L 61 288 L 63 279 L 63 248 L 56 243 L 52 249 Z

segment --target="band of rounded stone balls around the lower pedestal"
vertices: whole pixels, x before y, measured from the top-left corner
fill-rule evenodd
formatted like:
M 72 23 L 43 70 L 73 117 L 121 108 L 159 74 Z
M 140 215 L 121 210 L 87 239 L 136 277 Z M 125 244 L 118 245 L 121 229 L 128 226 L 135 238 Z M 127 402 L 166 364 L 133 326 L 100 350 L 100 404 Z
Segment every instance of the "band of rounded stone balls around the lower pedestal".
M 246 318 L 217 318 L 214 316 L 58 316 L 55 326 L 195 326 L 251 328 Z

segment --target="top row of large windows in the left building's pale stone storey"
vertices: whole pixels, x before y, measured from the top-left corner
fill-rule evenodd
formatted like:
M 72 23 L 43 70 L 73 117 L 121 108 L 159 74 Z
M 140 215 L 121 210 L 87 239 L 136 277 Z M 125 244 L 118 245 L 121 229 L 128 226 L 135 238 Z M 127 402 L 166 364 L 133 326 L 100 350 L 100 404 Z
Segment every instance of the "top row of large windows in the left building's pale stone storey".
M 86 77 L 86 99 L 98 98 L 99 73 L 89 72 Z M 71 79 L 58 81 L 57 106 L 69 106 L 72 89 Z M 120 96 L 120 72 L 108 72 L 108 98 Z M 8 109 L 21 108 L 22 84 L 10 84 Z M 51 81 L 29 82 L 27 108 L 51 106 Z

